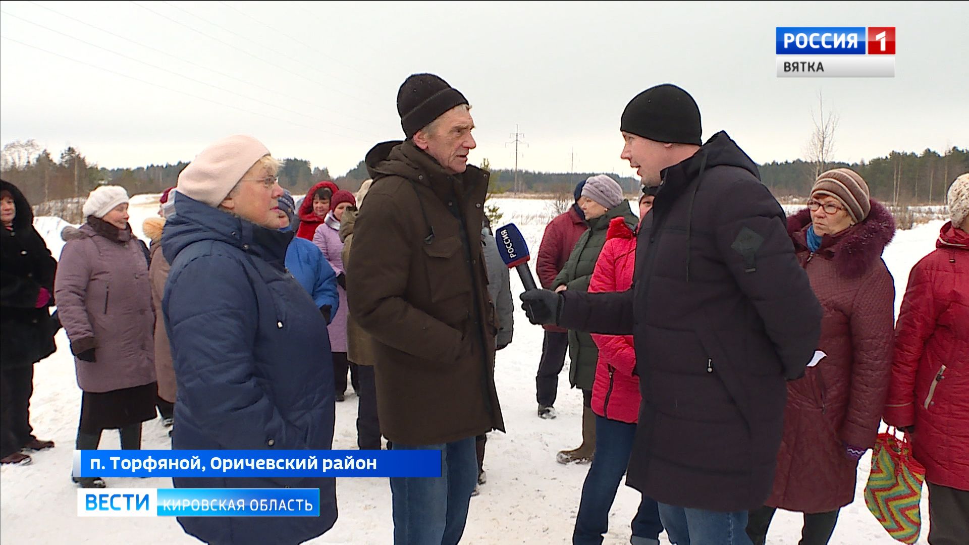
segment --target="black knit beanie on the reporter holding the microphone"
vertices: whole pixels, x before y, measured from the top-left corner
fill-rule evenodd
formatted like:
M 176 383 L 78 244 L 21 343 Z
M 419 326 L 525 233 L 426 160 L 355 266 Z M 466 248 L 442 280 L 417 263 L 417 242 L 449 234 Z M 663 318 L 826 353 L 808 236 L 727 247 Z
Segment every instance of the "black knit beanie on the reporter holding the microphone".
M 619 130 L 654 142 L 703 144 L 697 102 L 670 83 L 649 87 L 629 101 Z

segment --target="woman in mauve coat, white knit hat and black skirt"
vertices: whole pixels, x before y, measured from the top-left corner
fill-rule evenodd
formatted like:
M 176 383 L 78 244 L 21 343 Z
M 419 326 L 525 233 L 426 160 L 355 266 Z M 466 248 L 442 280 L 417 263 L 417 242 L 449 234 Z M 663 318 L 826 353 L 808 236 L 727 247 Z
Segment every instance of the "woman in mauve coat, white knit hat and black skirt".
M 94 450 L 104 430 L 118 430 L 121 448 L 141 448 L 141 423 L 155 418 L 155 312 L 147 248 L 128 224 L 128 193 L 98 187 L 67 240 L 54 278 L 57 315 L 71 341 L 80 401 L 78 450 Z M 104 488 L 96 477 L 75 477 Z

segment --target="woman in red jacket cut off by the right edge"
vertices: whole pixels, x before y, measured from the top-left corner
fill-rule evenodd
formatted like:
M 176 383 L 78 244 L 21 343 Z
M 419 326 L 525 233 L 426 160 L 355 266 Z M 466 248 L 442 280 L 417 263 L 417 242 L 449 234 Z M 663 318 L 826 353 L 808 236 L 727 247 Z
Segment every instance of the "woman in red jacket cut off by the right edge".
M 882 417 L 912 433 L 925 466 L 931 545 L 969 536 L 969 173 L 955 178 L 949 208 L 936 249 L 909 274 Z

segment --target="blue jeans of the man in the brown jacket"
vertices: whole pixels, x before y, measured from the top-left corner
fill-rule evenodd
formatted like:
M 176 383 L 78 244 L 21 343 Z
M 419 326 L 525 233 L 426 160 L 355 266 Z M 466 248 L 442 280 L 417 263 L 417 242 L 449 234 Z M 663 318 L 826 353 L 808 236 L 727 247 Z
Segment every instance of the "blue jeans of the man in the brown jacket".
M 391 477 L 394 545 L 455 545 L 478 484 L 475 438 L 393 450 L 441 451 L 441 477 Z

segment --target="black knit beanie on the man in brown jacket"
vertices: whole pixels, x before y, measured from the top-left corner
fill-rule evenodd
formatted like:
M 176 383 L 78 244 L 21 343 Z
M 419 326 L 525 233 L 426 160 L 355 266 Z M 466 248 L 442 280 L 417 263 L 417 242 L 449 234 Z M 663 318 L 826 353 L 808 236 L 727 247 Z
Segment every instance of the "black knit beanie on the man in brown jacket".
M 468 104 L 464 95 L 433 74 L 414 74 L 397 91 L 397 113 L 407 138 L 460 104 Z

